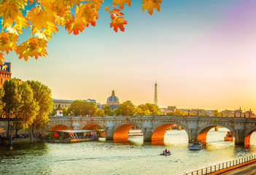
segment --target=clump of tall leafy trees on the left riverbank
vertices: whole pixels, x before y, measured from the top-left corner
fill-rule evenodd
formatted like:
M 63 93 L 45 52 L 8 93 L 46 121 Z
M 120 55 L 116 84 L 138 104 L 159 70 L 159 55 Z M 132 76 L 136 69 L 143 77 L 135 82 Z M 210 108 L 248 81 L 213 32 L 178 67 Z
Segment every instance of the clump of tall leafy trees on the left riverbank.
M 53 109 L 52 91 L 42 82 L 12 78 L 6 80 L 0 88 L 0 114 L 8 119 L 15 118 L 12 128 L 15 133 L 29 129 L 34 133 L 49 120 L 48 114 Z

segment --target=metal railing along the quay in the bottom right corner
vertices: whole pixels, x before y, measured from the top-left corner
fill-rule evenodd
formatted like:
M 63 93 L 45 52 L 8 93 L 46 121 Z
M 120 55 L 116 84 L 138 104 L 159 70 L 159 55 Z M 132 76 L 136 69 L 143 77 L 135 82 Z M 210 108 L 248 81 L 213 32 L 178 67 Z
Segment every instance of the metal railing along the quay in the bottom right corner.
M 207 168 L 202 168 L 202 169 L 199 169 L 197 171 L 192 171 L 192 172 L 184 174 L 184 175 L 210 174 L 214 171 L 219 171 L 219 170 L 229 168 L 231 166 L 236 166 L 236 165 L 239 165 L 241 163 L 246 163 L 246 162 L 249 162 L 249 161 L 255 160 L 255 159 L 256 159 L 256 155 L 250 155 L 250 156 L 245 157 L 245 158 L 239 158 L 239 159 L 231 160 L 231 161 L 228 161 L 228 162 L 225 162 L 225 163 L 220 163 L 220 164 L 217 164 L 215 166 L 209 166 Z

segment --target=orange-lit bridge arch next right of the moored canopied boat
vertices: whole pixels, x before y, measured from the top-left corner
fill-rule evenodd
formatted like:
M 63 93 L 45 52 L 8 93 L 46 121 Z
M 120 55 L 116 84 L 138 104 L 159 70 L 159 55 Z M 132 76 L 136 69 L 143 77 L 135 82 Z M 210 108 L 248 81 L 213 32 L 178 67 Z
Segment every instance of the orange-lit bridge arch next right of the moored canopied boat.
M 143 133 L 143 128 L 141 127 L 141 125 L 136 125 L 134 123 L 120 124 L 115 129 L 113 140 L 114 141 L 128 141 L 128 133 L 131 130 L 131 128 L 133 128 L 133 126 L 136 126 L 136 128 L 139 128 Z

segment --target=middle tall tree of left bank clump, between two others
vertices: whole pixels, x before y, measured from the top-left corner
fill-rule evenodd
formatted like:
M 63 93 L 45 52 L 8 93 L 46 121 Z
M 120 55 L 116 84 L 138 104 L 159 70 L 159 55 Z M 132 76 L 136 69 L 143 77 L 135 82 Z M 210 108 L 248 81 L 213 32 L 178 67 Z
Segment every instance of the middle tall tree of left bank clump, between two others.
M 18 130 L 25 130 L 29 125 L 32 125 L 39 110 L 38 104 L 34 101 L 33 90 L 27 82 L 18 83 L 18 93 L 20 93 L 21 102 L 20 108 L 15 115 L 17 119 L 15 122 L 16 136 Z

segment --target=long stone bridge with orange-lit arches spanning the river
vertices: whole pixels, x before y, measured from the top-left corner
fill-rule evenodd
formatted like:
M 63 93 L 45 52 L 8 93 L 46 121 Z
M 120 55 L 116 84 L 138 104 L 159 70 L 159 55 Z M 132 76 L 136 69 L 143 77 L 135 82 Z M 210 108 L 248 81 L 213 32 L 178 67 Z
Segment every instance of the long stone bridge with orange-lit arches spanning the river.
M 235 136 L 235 144 L 249 144 L 256 130 L 256 118 L 250 117 L 201 117 L 201 116 L 102 116 L 102 117 L 50 117 L 44 131 L 68 129 L 104 129 L 106 139 L 128 140 L 128 131 L 140 128 L 144 141 L 161 142 L 166 129 L 180 125 L 187 132 L 188 141 L 198 139 L 206 142 L 206 135 L 217 125 L 228 128 Z

